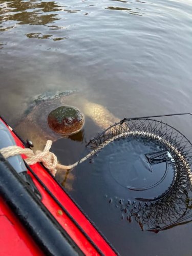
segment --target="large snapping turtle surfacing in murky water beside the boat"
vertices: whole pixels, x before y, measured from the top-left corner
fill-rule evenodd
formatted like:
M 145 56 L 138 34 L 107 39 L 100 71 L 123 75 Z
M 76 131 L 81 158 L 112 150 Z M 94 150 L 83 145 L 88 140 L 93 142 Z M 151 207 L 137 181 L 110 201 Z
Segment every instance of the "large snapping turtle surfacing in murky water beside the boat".
M 56 141 L 79 132 L 84 125 L 84 116 L 102 129 L 119 121 L 102 105 L 81 97 L 79 92 L 66 91 L 54 96 L 38 96 L 15 131 L 24 140 L 31 140 L 34 150 L 42 150 L 48 139 Z

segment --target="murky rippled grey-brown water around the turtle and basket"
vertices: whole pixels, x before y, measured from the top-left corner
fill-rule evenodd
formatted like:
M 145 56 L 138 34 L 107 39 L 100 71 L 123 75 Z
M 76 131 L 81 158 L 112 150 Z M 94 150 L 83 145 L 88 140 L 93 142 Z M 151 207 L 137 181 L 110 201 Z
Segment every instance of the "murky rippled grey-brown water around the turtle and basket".
M 119 119 L 191 112 L 191 22 L 189 0 L 0 0 L 0 114 L 15 126 L 34 97 L 66 90 Z M 190 118 L 167 122 L 191 139 Z M 88 118 L 83 143 L 61 139 L 54 150 L 73 162 L 99 131 Z M 191 224 L 154 234 L 106 216 L 114 241 L 127 236 L 117 248 L 124 255 L 191 255 Z

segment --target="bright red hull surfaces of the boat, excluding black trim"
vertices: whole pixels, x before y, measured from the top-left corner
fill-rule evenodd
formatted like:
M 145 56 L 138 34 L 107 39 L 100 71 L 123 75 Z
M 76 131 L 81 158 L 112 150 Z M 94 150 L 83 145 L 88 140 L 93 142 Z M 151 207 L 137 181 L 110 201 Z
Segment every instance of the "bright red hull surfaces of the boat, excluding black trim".
M 10 127 L 9 131 L 16 144 L 24 147 L 22 141 Z M 25 159 L 25 156 L 22 157 Z M 28 174 L 41 194 L 41 203 L 44 204 L 54 219 L 68 233 L 84 254 L 117 254 L 44 166 L 40 163 L 31 165 L 28 168 Z M 0 200 L 0 217 L 1 255 L 20 255 L 21 253 L 24 255 L 44 254 L 3 199 Z

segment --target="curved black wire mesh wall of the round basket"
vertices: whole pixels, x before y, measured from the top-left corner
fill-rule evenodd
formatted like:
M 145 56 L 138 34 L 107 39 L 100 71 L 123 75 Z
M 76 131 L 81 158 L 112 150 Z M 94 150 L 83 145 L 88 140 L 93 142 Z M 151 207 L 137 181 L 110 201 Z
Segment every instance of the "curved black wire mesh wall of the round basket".
M 174 159 L 173 182 L 158 198 L 131 201 L 129 189 L 127 189 L 127 198 L 121 198 L 119 195 L 108 202 L 115 202 L 116 208 L 123 212 L 127 221 L 132 222 L 135 219 L 142 230 L 158 232 L 190 222 L 192 220 L 192 145 L 190 141 L 177 129 L 162 121 L 151 118 L 124 118 L 92 139 L 87 146 L 94 158 L 112 141 L 129 136 L 155 140 L 167 149 Z

